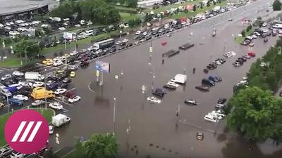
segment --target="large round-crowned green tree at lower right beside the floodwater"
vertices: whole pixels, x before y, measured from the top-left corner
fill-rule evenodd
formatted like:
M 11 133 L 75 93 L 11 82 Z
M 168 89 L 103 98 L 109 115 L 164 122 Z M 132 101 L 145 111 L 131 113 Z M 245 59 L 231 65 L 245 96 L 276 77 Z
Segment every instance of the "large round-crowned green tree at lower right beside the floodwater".
M 270 91 L 248 87 L 230 100 L 233 107 L 227 116 L 230 129 L 239 131 L 253 140 L 266 140 L 281 136 L 281 105 Z M 280 114 L 280 116 L 279 116 Z

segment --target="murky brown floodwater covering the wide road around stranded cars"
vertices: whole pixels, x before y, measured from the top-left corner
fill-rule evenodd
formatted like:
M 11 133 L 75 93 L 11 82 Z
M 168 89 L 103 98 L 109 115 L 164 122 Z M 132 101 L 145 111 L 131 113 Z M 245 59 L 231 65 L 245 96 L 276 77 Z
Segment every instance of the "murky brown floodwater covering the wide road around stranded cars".
M 213 24 L 206 24 L 213 27 Z M 92 133 L 115 131 L 120 143 L 120 157 L 281 157 L 282 147 L 272 145 L 271 140 L 263 144 L 252 143 L 236 133 L 226 131 L 225 119 L 217 124 L 203 119 L 205 114 L 214 110 L 219 98 L 232 96 L 233 85 L 245 76 L 252 62 L 262 57 L 275 44 L 276 39 L 269 37 L 267 44 L 262 39 L 255 39 L 253 50 L 257 57 L 248 60 L 242 67 L 235 68 L 231 65 L 232 62 L 248 51 L 248 47 L 235 44 L 232 37 L 232 34 L 238 34 L 243 29 L 240 21 L 233 22 L 232 25 L 221 25 L 216 37 L 209 36 L 211 29 L 205 28 L 204 22 L 199 25 L 203 27 L 192 26 L 176 32 L 172 37 L 154 40 L 151 59 L 150 42 L 103 58 L 102 61 L 111 63 L 111 73 L 104 73 L 103 86 L 96 83 L 94 63 L 87 69 L 79 70 L 73 84 L 82 100 L 74 106 L 66 107 L 71 124 L 55 129 L 55 133 L 60 135 L 61 144 L 56 145 L 54 137 L 51 137 L 50 142 L 54 148 L 59 150 L 61 147 L 71 146 L 79 136 L 87 138 Z M 193 35 L 188 38 L 190 32 Z M 162 46 L 162 41 L 167 41 L 168 44 Z M 195 46 L 188 51 L 180 51 L 171 58 L 164 58 L 164 64 L 162 63 L 162 53 L 177 50 L 178 46 L 188 41 Z M 216 70 L 204 74 L 203 68 L 212 60 L 222 58 L 227 51 L 235 51 L 237 55 L 228 58 Z M 192 74 L 193 67 L 196 68 L 195 74 Z M 179 86 L 176 91 L 168 91 L 161 99 L 161 104 L 152 105 L 147 102 L 153 83 L 154 88 L 162 87 L 175 74 L 183 72 L 188 75 L 185 85 Z M 152 74 L 155 75 L 154 81 Z M 195 89 L 210 74 L 221 76 L 223 81 L 208 93 Z M 118 79 L 115 79 L 115 75 L 118 75 Z M 142 93 L 142 85 L 147 86 L 145 94 Z M 185 98 L 193 98 L 200 105 L 187 106 L 183 103 Z M 176 117 L 178 105 L 180 116 Z M 126 129 L 130 129 L 129 133 L 126 133 Z M 197 131 L 204 133 L 204 140 L 196 140 Z

